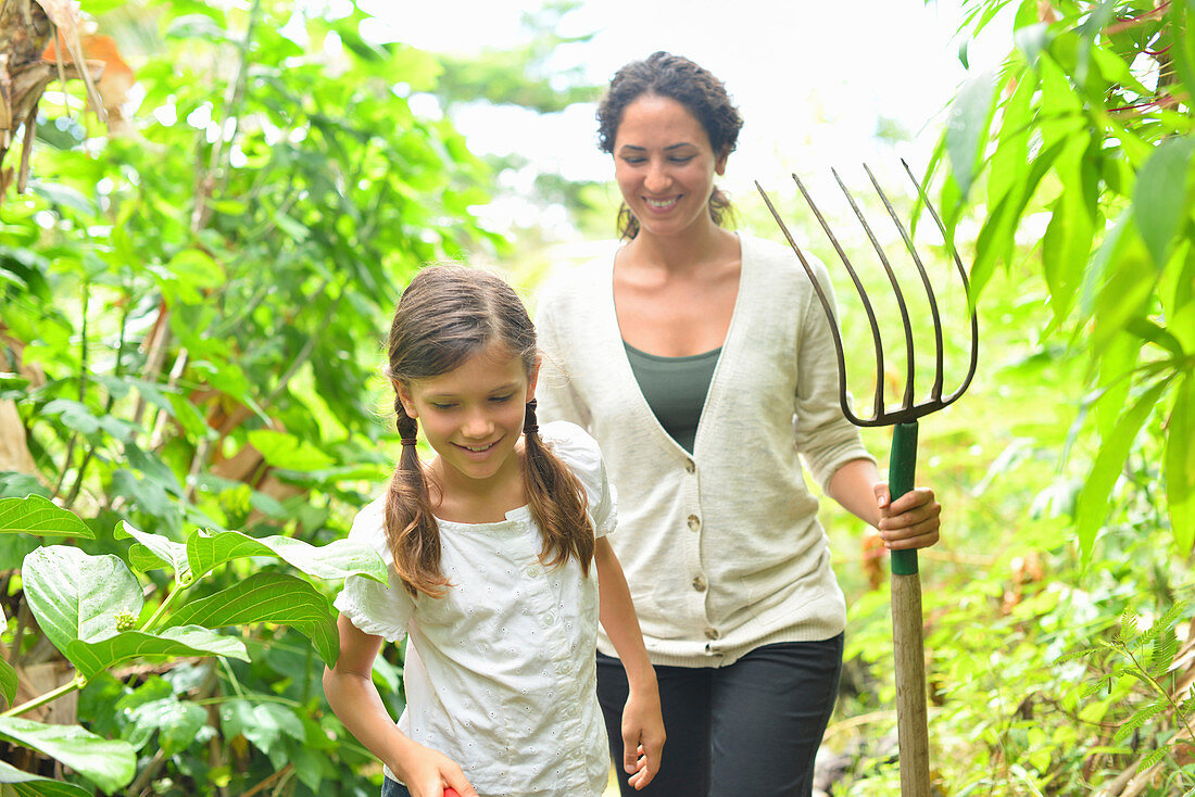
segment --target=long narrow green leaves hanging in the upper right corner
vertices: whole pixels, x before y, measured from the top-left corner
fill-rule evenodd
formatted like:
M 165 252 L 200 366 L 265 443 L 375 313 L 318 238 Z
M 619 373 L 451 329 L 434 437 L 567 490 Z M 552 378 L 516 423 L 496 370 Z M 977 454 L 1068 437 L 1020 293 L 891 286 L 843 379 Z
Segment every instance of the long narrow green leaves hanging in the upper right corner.
M 1005 7 L 1016 48 L 997 80 L 980 73 L 963 86 L 939 146 L 944 215 L 956 223 L 968 202 L 981 213 L 976 289 L 998 263 L 1015 263 L 1030 217 L 1048 219 L 1038 255 L 1052 326 L 1091 358 L 1083 410 L 1099 443 L 1078 504 L 1083 551 L 1123 497 L 1117 484 L 1142 431 L 1158 439 L 1185 554 L 1195 541 L 1191 8 L 986 0 L 967 25 L 978 35 Z

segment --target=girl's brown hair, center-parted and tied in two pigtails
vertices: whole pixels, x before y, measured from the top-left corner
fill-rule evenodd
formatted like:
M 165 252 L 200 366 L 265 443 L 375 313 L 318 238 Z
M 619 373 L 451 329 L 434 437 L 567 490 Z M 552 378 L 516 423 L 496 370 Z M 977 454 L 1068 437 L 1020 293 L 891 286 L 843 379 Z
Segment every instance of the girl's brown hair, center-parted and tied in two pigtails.
M 500 277 L 459 265 L 428 266 L 415 275 L 394 311 L 387 343 L 387 376 L 403 385 L 445 374 L 492 343 L 519 357 L 528 376 L 539 358 L 535 327 L 514 289 Z M 428 476 L 415 449 L 418 423 L 394 397 L 403 454 L 386 493 L 386 540 L 394 570 L 411 595 L 442 596 L 451 583 L 440 570 L 440 527 Z M 547 566 L 576 557 L 589 575 L 594 528 L 580 479 L 539 436 L 535 403 L 523 423 L 523 486 L 544 535 Z

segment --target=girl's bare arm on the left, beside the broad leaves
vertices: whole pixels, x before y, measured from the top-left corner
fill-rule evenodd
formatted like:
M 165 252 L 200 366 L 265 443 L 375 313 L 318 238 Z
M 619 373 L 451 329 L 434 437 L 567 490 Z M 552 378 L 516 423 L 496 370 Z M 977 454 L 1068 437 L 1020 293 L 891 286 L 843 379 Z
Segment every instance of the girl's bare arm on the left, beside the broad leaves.
M 341 655 L 336 667 L 324 669 L 324 694 L 349 732 L 403 779 L 412 797 L 442 797 L 445 786 L 477 797 L 455 762 L 412 741 L 390 718 L 372 676 L 382 638 L 361 631 L 343 614 L 336 627 Z

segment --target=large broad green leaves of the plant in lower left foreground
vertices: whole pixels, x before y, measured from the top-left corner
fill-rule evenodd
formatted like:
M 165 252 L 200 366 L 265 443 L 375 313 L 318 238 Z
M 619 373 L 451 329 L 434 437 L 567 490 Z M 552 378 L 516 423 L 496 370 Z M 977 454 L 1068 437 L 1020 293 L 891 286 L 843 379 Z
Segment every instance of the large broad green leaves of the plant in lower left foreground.
M 26 527 L 30 519 L 44 517 L 42 503 L 43 499 L 37 497 L 23 502 L 18 499 L 18 505 L 10 509 L 12 522 Z M 50 526 L 45 533 L 63 534 L 79 522 L 71 513 L 66 515 L 69 517 L 60 519 L 59 527 Z M 139 535 L 152 544 L 147 539 L 152 535 Z M 42 631 L 75 666 L 78 675 L 54 693 L 0 715 L 0 737 L 55 758 L 111 792 L 133 780 L 135 749 L 142 747 L 154 732 L 164 752 L 177 754 L 194 743 L 207 722 L 207 713 L 194 704 L 179 701 L 173 693 L 128 706 L 128 737 L 134 742 L 133 747 L 122 740 L 105 740 L 81 727 L 44 725 L 17 715 L 81 688 L 97 675 L 129 660 L 215 656 L 250 661 L 241 639 L 216 631 L 226 626 L 258 623 L 294 626 L 311 638 L 324 662 L 335 664 L 338 654 L 335 611 L 327 599 L 304 580 L 281 572 L 256 572 L 228 589 L 189 603 L 179 603 L 178 596 L 196 584 L 195 574 L 207 576 L 238 557 L 274 556 L 317 578 L 343 580 L 347 575 L 361 575 L 385 582 L 386 568 L 380 557 L 372 548 L 348 540 L 324 546 L 330 553 L 325 562 L 319 556 L 320 548 L 299 540 L 289 540 L 294 544 L 292 546 L 280 546 L 277 541 L 257 545 L 233 532 L 226 532 L 222 539 L 229 537 L 240 539 L 233 540 L 232 546 L 217 546 L 223 551 L 219 558 L 213 558 L 209 547 L 189 550 L 188 566 L 176 569 L 178 581 L 174 590 L 145 620 L 140 619 L 143 613 L 141 583 L 120 557 L 90 556 L 67 546 L 38 547 L 30 553 L 22 568 L 25 599 Z M 191 539 L 196 538 L 213 539 L 198 531 Z M 296 550 L 301 552 L 299 556 Z M 154 568 L 163 564 L 153 557 L 147 563 Z M 5 685 L 5 699 L 11 703 L 16 692 L 16 672 L 8 664 L 4 667 L 6 670 L 0 685 Z M 241 699 L 231 710 L 240 712 L 234 717 L 246 712 L 256 717 L 252 730 L 245 736 L 268 754 L 271 748 L 262 740 L 272 737 L 262 734 L 268 734 L 270 728 L 298 728 L 299 738 L 306 738 L 302 721 L 292 709 L 261 706 Z M 244 732 L 244 725 L 233 723 L 232 728 L 234 735 Z M 30 793 L 51 793 L 37 791 L 42 789 L 38 780 L 29 783 L 32 785 L 25 789 L 31 790 Z

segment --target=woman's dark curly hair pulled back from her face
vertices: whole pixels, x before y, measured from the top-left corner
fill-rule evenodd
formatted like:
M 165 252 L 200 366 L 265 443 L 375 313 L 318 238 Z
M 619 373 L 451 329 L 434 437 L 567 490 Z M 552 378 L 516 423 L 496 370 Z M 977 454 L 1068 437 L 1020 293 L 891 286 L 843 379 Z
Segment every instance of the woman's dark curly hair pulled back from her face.
M 739 143 L 743 119 L 730 100 L 727 86 L 688 59 L 670 53 L 652 53 L 643 61 L 631 61 L 614 73 L 609 88 L 598 104 L 598 148 L 614 152 L 614 139 L 626 106 L 643 96 L 668 97 L 693 115 L 710 139 L 715 158 L 729 155 Z M 715 188 L 710 195 L 710 217 L 721 225 L 734 213 L 730 200 Z M 619 238 L 639 234 L 639 220 L 624 202 L 618 209 Z

